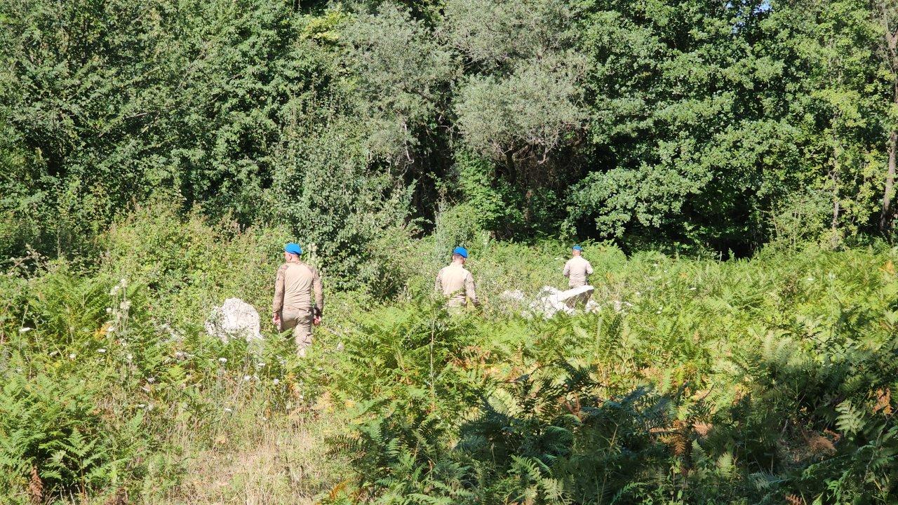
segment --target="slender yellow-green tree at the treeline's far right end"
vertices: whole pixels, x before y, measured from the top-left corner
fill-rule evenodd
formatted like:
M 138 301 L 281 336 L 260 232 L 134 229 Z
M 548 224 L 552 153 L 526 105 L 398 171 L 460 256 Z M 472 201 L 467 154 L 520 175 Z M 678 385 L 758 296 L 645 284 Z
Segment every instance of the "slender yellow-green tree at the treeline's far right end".
M 838 244 L 841 235 L 874 224 L 884 183 L 882 135 L 891 86 L 875 57 L 880 32 L 862 0 L 779 8 L 783 42 L 776 50 L 795 66 L 790 80 L 799 92 L 789 119 L 806 134 L 809 186 L 831 195 L 830 239 Z

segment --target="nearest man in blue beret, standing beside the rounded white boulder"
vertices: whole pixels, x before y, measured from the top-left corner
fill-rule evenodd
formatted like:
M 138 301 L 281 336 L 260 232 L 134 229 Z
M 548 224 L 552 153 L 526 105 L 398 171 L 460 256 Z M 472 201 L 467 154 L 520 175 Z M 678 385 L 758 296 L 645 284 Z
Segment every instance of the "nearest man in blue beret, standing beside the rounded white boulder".
M 318 270 L 300 260 L 303 249 L 299 244 L 286 244 L 285 263 L 277 269 L 275 297 L 271 322 L 278 332 L 293 330 L 296 354 L 305 356 L 305 348 L 312 345 L 312 326 L 321 323 L 324 312 L 324 291 Z M 315 304 L 312 304 L 312 291 Z

